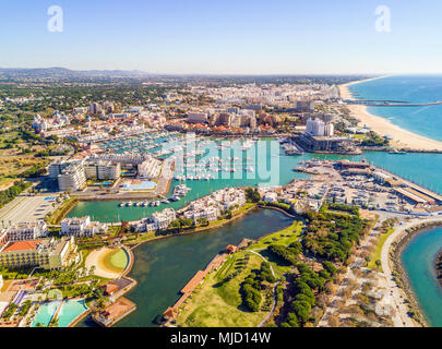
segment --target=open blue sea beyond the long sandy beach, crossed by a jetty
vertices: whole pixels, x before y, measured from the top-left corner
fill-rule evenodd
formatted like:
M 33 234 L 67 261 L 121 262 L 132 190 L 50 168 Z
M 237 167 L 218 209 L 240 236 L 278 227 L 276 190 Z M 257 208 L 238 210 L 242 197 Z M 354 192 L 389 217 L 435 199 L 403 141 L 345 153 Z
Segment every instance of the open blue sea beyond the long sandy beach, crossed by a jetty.
M 349 87 L 355 98 L 408 100 L 423 104 L 442 100 L 442 75 L 390 76 Z M 369 107 L 372 115 L 389 119 L 404 130 L 442 141 L 442 105 L 426 107 Z

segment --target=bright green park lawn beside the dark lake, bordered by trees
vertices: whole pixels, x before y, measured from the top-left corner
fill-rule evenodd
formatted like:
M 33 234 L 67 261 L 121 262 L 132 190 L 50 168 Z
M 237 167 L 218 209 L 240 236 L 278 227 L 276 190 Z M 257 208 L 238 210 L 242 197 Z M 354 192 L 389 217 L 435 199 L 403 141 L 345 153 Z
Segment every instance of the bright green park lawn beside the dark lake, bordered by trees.
M 184 327 L 256 327 L 268 314 L 267 311 L 250 312 L 242 306 L 242 299 L 239 293 L 240 285 L 253 272 L 260 269 L 263 260 L 250 252 L 254 250 L 267 258 L 276 277 L 279 278 L 291 267 L 266 255 L 265 249 L 271 243 L 288 245 L 299 239 L 302 231 L 301 222 L 294 222 L 292 226 L 272 233 L 248 250 L 232 254 L 218 269 L 211 272 L 202 286 L 196 288 L 192 298 L 189 298 L 181 308 L 177 318 L 179 325 Z M 227 277 L 234 273 L 239 274 L 232 279 Z M 273 294 L 262 292 L 263 301 L 265 297 Z

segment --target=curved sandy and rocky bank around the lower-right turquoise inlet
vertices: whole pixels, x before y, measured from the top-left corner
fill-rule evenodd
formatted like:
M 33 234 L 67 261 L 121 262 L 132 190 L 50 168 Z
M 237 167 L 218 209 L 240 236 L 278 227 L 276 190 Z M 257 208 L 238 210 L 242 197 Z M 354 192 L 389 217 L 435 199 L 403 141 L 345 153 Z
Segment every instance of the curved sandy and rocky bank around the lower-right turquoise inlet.
M 417 296 L 411 288 L 408 275 L 406 274 L 403 263 L 402 263 L 402 253 L 404 249 L 411 242 L 414 238 L 418 234 L 429 231 L 433 228 L 441 227 L 442 219 L 431 219 L 427 221 L 413 221 L 402 227 L 399 230 L 395 230 L 385 241 L 384 246 L 381 251 L 381 261 L 383 273 L 391 285 L 392 296 L 394 302 L 396 303 L 396 308 L 399 309 L 402 314 L 402 321 L 404 323 L 404 327 L 416 327 L 414 323 L 421 325 L 422 327 L 430 327 L 422 309 L 418 302 Z M 396 292 L 398 289 L 398 292 Z M 402 294 L 401 294 L 402 293 Z M 409 302 L 409 304 L 401 303 L 403 301 L 401 299 L 402 296 L 405 294 L 405 299 Z M 402 310 L 401 306 L 403 305 Z M 408 316 L 408 306 L 410 310 L 415 312 L 415 316 L 417 318 L 413 318 Z M 404 310 L 405 308 L 405 310 Z M 405 322 L 404 317 L 405 316 Z M 407 326 L 408 320 L 408 326 Z

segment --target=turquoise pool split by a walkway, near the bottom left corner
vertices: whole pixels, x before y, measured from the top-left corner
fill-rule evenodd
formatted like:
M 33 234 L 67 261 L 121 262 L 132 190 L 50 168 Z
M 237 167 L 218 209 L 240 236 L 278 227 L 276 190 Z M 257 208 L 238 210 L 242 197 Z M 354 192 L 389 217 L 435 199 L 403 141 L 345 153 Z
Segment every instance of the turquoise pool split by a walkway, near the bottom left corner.
M 32 323 L 32 327 L 37 327 L 38 324 L 41 326 L 49 326 L 50 321 L 57 312 L 61 301 L 52 301 L 45 303 L 38 310 L 37 316 Z M 76 317 L 87 311 L 86 303 L 84 299 L 65 301 L 62 303 L 60 311 L 58 312 L 58 326 L 68 327 Z

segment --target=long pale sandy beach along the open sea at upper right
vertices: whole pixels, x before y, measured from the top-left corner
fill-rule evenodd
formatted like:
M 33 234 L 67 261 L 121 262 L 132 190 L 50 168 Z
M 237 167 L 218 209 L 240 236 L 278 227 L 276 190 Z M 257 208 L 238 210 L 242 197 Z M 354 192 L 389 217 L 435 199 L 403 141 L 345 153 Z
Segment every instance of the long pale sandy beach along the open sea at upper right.
M 343 99 L 353 99 L 353 96 L 348 89 L 349 86 L 375 79 L 368 79 L 339 85 L 341 97 Z M 415 134 L 413 132 L 401 129 L 399 127 L 393 124 L 391 121 L 384 118 L 372 116 L 369 112 L 367 112 L 366 106 L 348 105 L 347 108 L 351 111 L 355 118 L 360 120 L 359 124 L 360 127 L 367 125 L 381 136 L 385 135 L 392 136 L 393 141 L 391 143 L 393 146 L 397 148 L 408 148 L 414 151 L 427 151 L 427 152 L 442 151 L 442 142 Z

